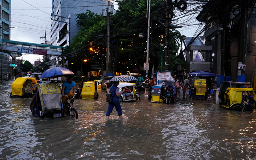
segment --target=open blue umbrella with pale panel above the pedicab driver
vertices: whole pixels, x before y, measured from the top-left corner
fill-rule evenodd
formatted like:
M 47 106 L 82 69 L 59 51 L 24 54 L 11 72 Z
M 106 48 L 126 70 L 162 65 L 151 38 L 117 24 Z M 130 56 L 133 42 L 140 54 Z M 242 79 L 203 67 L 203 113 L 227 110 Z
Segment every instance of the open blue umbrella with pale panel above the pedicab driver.
M 74 75 L 71 70 L 62 67 L 54 67 L 46 70 L 40 78 L 57 78 L 62 76 Z

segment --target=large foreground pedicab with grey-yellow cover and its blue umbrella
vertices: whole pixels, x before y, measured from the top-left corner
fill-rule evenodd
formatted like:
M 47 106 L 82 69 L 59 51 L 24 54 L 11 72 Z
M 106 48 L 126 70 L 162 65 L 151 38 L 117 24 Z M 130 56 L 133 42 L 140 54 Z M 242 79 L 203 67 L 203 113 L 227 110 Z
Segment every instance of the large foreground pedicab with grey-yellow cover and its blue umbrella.
M 55 67 L 46 70 L 41 78 L 58 78 L 68 75 L 74 75 L 74 73 L 66 68 Z M 67 97 L 67 102 L 62 104 L 59 83 L 36 84 L 35 95 L 30 102 L 30 110 L 33 116 L 41 118 L 45 116 L 56 118 L 65 114 L 71 116 L 71 118 L 78 118 L 77 111 L 70 105 L 70 101 L 71 99 Z

